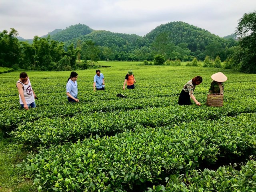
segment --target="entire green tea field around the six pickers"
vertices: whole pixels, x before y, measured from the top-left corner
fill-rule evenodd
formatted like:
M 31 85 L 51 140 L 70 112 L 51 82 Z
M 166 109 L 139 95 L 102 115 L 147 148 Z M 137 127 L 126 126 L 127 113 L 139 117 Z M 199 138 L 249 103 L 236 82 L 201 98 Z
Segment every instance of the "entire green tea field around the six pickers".
M 256 74 L 98 64 L 111 66 L 100 68 L 106 90 L 93 92 L 95 70 L 76 71 L 80 102 L 74 104 L 66 98 L 70 72 L 28 71 L 39 98 L 28 111 L 19 108 L 20 71 L 0 74 L 2 140 L 25 151 L 13 165 L 36 190 L 256 191 Z M 122 90 L 130 69 L 135 89 Z M 224 106 L 209 107 L 211 75 L 219 71 L 228 77 Z M 183 85 L 198 75 L 203 82 L 194 95 L 202 105 L 179 106 Z

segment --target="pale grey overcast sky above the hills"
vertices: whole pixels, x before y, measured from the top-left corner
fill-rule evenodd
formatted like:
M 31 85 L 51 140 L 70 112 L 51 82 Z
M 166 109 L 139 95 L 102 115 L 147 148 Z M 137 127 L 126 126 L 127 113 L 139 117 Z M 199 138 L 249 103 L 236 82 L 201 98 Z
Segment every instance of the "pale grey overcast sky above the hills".
M 255 0 L 0 0 L 0 31 L 15 28 L 32 39 L 80 23 L 144 36 L 160 24 L 183 21 L 224 37 L 254 10 Z

